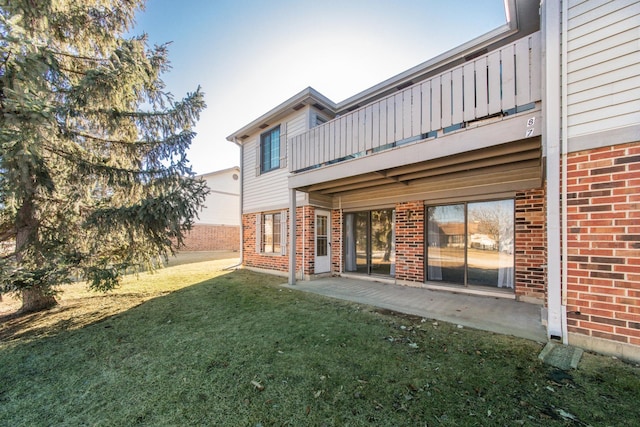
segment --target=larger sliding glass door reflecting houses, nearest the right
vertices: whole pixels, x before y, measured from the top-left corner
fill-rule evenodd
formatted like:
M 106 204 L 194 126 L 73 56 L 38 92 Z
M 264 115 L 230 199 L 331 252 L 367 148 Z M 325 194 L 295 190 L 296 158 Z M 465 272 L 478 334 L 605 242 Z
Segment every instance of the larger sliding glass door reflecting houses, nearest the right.
M 514 288 L 513 200 L 427 208 L 427 280 Z

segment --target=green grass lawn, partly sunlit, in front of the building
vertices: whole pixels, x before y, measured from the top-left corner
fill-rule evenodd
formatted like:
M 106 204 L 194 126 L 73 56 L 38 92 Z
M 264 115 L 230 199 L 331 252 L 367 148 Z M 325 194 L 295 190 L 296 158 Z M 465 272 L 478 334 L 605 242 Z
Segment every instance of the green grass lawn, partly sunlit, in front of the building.
M 636 426 L 640 368 L 174 263 L 0 318 L 0 425 Z M 2 313 L 0 313 L 2 315 Z

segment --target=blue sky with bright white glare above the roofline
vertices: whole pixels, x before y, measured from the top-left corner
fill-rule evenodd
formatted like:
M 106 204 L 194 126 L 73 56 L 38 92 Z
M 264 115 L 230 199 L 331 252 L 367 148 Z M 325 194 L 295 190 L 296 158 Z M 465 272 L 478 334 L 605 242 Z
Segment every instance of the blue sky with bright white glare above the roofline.
M 306 87 L 343 101 L 504 24 L 503 0 L 147 0 L 132 34 L 171 42 L 162 76 L 207 109 L 188 158 L 238 166 L 226 137 Z

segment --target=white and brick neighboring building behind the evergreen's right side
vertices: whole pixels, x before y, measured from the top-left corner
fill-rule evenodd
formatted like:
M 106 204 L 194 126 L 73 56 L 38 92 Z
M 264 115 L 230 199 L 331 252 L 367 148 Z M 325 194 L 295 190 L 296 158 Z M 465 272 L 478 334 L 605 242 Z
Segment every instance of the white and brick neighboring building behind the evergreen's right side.
M 181 250 L 239 251 L 240 168 L 236 166 L 198 177 L 207 182 L 210 192 Z

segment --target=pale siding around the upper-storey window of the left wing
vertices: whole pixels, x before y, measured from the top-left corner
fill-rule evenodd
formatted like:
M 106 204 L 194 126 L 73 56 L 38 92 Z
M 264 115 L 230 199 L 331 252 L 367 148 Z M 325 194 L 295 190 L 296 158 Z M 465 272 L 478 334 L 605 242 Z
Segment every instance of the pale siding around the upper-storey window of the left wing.
M 274 123 L 277 125 L 277 123 Z M 280 123 L 280 136 L 285 141 L 280 146 L 280 168 L 260 174 L 260 134 L 251 135 L 243 144 L 242 167 L 245 171 L 243 183 L 243 211 L 264 212 L 273 209 L 282 209 L 289 205 L 289 187 L 287 177 L 289 170 L 287 165 L 286 141 L 292 135 L 297 135 L 307 130 L 307 113 L 304 109 L 297 111 Z M 257 172 L 257 173 L 256 173 Z M 304 201 L 304 194 L 298 193 L 298 202 Z

